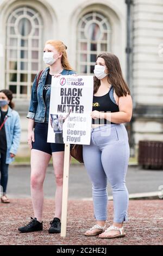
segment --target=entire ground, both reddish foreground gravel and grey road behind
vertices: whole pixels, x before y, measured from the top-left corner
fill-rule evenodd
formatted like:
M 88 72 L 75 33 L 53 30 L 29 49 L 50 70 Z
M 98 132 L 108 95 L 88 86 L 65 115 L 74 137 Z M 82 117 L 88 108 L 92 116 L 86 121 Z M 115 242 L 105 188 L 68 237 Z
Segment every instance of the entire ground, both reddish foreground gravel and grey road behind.
M 11 166 L 9 169 L 8 195 L 10 204 L 0 203 L 0 245 L 163 245 L 163 201 L 130 200 L 129 222 L 125 224 L 126 237 L 107 240 L 85 237 L 84 231 L 94 224 L 92 202 L 81 200 L 91 198 L 91 182 L 81 166 L 71 166 L 67 236 L 49 234 L 49 221 L 54 216 L 55 179 L 53 169 L 48 167 L 45 189 L 43 231 L 20 234 L 17 227 L 30 221 L 33 216 L 30 200 L 30 167 Z M 129 167 L 127 187 L 129 193 L 158 191 L 163 185 L 163 170 L 141 170 Z M 162 186 L 163 188 L 163 186 Z M 111 195 L 110 187 L 108 187 Z M 26 199 L 25 199 L 26 198 Z M 108 225 L 111 224 L 113 205 L 108 206 Z

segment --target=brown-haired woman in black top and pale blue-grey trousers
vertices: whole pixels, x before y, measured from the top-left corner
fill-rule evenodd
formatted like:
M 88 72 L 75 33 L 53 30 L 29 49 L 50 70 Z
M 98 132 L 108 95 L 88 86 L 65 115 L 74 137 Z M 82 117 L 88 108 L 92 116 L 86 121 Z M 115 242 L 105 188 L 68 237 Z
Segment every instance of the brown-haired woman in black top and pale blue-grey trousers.
M 92 182 L 96 225 L 87 230 L 85 236 L 99 235 L 99 238 L 110 239 L 126 235 L 123 222 L 127 221 L 128 210 L 125 179 L 129 143 L 123 123 L 130 121 L 133 106 L 120 62 L 114 54 L 99 54 L 94 73 L 91 143 L 83 145 L 83 159 Z M 93 161 L 90 161 L 92 156 Z M 106 229 L 107 180 L 112 187 L 114 221 Z

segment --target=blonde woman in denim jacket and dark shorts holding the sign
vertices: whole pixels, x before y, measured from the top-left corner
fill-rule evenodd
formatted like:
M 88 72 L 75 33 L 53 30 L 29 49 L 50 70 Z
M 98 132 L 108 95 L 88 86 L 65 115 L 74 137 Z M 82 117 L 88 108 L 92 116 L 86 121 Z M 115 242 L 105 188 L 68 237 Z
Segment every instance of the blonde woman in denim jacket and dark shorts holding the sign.
M 62 179 L 64 168 L 64 144 L 47 143 L 49 101 L 51 95 L 52 76 L 75 74 L 71 68 L 66 54 L 66 46 L 61 41 L 49 40 L 43 49 L 43 60 L 48 65 L 36 88 L 35 77 L 30 107 L 27 118 L 28 144 L 31 149 L 31 195 L 34 210 L 34 218 L 24 227 L 18 228 L 21 233 L 42 230 L 43 211 L 43 181 L 49 160 L 53 159 L 54 174 L 56 180 L 55 214 L 49 233 L 60 233 L 61 230 L 61 204 L 62 204 Z

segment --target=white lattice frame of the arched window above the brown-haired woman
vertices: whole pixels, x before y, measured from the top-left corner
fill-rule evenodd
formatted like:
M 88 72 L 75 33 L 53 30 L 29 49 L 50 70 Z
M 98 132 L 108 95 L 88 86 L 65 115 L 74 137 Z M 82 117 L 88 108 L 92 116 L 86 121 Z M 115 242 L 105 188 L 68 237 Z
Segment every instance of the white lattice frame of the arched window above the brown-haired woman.
M 83 25 L 85 23 L 85 26 Z M 87 33 L 89 27 L 91 24 L 97 24 L 99 26 L 99 29 L 101 29 L 101 35 L 99 35 L 99 38 L 96 40 L 92 40 L 89 38 L 89 34 Z M 103 27 L 105 26 L 106 29 Z M 83 33 L 83 38 L 81 38 L 81 34 Z M 106 39 L 102 39 L 102 36 L 106 34 Z M 91 72 L 91 66 L 95 65 L 94 61 L 91 61 L 91 54 L 96 54 L 96 56 L 99 53 L 103 52 L 111 52 L 111 24 L 104 14 L 98 11 L 89 11 L 89 13 L 86 13 L 83 15 L 77 26 L 77 70 L 80 75 L 92 75 L 93 72 Z M 84 38 L 85 37 L 85 38 Z M 81 45 L 86 44 L 87 47 L 85 50 L 81 48 Z M 91 44 L 97 45 L 97 50 L 91 50 Z M 102 50 L 101 45 L 106 45 L 106 51 Z M 86 60 L 82 61 L 81 56 L 82 54 L 86 55 Z M 86 72 L 82 71 L 82 66 L 85 66 Z

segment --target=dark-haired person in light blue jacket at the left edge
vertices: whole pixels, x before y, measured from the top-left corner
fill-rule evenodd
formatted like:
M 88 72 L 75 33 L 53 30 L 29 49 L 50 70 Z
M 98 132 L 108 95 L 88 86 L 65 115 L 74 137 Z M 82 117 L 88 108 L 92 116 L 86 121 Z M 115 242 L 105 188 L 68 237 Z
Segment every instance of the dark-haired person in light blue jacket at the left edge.
M 0 160 L 1 160 L 1 182 L 3 195 L 2 203 L 10 203 L 7 198 L 7 182 L 9 163 L 14 161 L 20 143 L 20 117 L 13 110 L 12 92 L 4 89 L 0 91 Z

